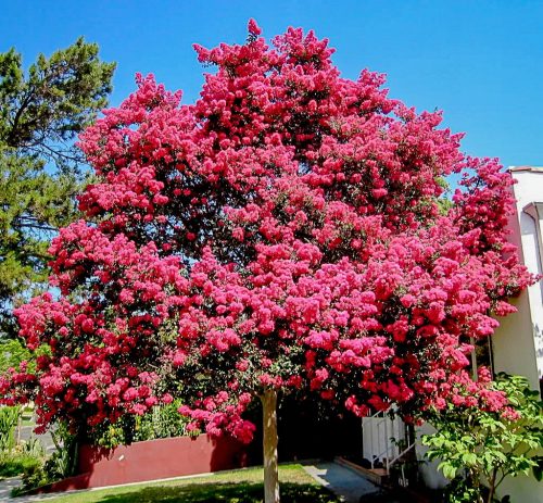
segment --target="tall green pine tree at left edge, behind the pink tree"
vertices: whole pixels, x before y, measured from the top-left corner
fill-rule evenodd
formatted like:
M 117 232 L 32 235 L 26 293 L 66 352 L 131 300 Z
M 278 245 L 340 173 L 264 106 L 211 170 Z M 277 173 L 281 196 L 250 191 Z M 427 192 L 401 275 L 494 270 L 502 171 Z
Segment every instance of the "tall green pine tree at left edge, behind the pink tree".
M 106 105 L 115 65 L 83 38 L 25 73 L 0 53 L 0 337 L 14 335 L 11 307 L 47 278 L 47 248 L 76 215 L 84 183 L 74 138 Z

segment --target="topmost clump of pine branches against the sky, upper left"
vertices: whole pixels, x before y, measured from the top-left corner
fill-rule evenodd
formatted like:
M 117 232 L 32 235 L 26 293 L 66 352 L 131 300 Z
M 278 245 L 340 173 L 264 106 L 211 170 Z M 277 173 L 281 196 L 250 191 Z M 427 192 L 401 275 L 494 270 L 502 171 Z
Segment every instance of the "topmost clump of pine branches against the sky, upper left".
M 79 38 L 43 54 L 27 75 L 14 49 L 0 54 L 0 138 L 20 153 L 37 153 L 71 168 L 80 154 L 71 140 L 108 103 L 115 65 L 98 59 L 98 46 Z

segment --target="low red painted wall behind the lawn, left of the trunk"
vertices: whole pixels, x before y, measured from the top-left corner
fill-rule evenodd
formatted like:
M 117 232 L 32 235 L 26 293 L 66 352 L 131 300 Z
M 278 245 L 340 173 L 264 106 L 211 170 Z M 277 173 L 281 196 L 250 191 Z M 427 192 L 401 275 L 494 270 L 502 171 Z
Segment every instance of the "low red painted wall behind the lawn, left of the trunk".
M 178 437 L 111 450 L 83 445 L 79 452 L 81 475 L 53 483 L 47 492 L 141 482 L 247 465 L 244 445 L 229 437 Z

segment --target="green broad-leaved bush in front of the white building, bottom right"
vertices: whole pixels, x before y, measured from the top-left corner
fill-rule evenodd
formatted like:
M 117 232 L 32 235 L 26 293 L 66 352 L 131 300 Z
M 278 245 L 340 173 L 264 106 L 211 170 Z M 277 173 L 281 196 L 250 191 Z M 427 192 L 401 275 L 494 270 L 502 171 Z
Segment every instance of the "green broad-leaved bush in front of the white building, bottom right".
M 541 480 L 543 403 L 521 376 L 500 374 L 489 390 L 500 391 L 508 406 L 501 410 L 449 403 L 427 419 L 437 428 L 422 437 L 430 447 L 429 460 L 440 460 L 439 469 L 453 480 L 446 488 L 449 502 L 494 502 L 496 489 L 506 477 L 530 471 Z M 468 390 L 458 390 L 467 395 Z M 485 488 L 481 481 L 488 483 Z M 505 496 L 502 501 L 509 501 Z

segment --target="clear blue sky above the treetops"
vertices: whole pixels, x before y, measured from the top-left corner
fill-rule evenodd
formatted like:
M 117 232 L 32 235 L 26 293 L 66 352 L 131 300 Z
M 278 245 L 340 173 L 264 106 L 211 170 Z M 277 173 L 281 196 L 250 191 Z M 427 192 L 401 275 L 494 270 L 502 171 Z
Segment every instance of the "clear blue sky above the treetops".
M 0 51 L 25 63 L 78 36 L 116 61 L 112 104 L 154 73 L 184 101 L 198 97 L 205 68 L 192 43 L 243 42 L 249 17 L 272 37 L 314 29 L 337 49 L 342 75 L 388 75 L 390 96 L 418 110 L 441 109 L 467 134 L 473 155 L 505 165 L 543 164 L 543 1 L 36 1 L 0 0 Z

